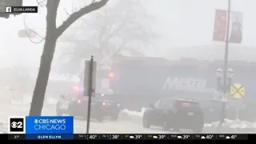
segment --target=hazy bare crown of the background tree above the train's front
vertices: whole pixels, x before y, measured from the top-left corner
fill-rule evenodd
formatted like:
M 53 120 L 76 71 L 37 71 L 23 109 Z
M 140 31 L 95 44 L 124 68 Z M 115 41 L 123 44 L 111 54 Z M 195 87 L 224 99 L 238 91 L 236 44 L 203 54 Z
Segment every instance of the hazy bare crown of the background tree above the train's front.
M 150 23 L 147 21 L 151 18 L 145 17 L 146 10 L 141 8 L 139 2 L 131 1 L 118 1 L 116 6 L 106 6 L 101 12 L 95 13 L 93 19 L 89 21 L 82 19 L 87 26 L 81 25 L 76 31 L 82 30 L 86 38 L 81 38 L 78 34 L 66 37 L 67 41 L 74 42 L 78 48 L 67 56 L 72 57 L 69 60 L 71 65 L 76 65 L 88 54 L 96 54 L 98 66 L 102 66 L 111 62 L 113 56 L 120 54 L 123 50 L 130 52 L 134 50 L 139 53 L 139 50 L 154 40 L 154 31 L 146 27 L 146 24 Z M 94 31 L 87 35 L 87 30 Z M 86 42 L 91 46 L 86 45 Z M 65 66 L 69 65 L 63 65 Z

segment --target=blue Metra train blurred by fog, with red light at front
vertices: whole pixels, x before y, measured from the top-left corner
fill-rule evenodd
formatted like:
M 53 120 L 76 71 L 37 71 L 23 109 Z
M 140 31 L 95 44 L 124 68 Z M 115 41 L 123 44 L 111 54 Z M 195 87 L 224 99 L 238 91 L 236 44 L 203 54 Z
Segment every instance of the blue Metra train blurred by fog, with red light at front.
M 222 61 L 119 57 L 114 59 L 111 70 L 103 73 L 118 102 L 129 110 L 140 110 L 149 102 L 165 97 L 218 99 L 216 70 L 222 66 Z M 246 93 L 241 99 L 227 94 L 228 100 L 243 105 L 255 102 L 256 63 L 232 61 L 229 68 L 234 70 L 231 83 L 241 83 Z

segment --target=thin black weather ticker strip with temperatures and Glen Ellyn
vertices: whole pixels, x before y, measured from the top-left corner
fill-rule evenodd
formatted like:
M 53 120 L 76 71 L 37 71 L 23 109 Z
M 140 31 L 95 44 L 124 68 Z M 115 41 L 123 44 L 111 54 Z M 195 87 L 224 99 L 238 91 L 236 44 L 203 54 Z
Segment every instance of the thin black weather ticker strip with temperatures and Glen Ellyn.
M 252 140 L 254 134 L 1 134 L 9 140 Z

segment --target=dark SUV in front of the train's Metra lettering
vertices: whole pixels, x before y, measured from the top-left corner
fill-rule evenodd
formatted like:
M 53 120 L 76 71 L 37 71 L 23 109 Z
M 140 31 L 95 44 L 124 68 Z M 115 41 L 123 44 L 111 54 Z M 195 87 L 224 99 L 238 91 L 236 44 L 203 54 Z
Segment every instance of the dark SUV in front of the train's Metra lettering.
M 162 126 L 174 131 L 191 129 L 201 133 L 204 126 L 202 107 L 192 100 L 163 98 L 144 112 L 143 126 Z

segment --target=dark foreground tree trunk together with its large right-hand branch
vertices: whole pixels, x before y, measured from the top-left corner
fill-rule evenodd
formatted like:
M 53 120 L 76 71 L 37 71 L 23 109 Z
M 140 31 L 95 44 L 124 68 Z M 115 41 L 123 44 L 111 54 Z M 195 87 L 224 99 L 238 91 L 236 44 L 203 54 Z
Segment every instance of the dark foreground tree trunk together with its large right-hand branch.
M 78 18 L 81 18 L 85 14 L 89 14 L 94 10 L 100 9 L 106 5 L 108 0 L 102 0 L 99 2 L 92 2 L 88 6 L 84 6 L 81 10 L 74 12 L 67 18 L 61 26 L 56 28 L 57 10 L 60 0 L 48 0 L 46 3 L 47 15 L 46 15 L 46 38 L 45 45 L 42 52 L 40 68 L 38 72 L 37 82 L 34 87 L 34 94 L 30 106 L 30 115 L 40 116 L 42 114 L 42 106 L 45 99 L 46 86 L 50 74 L 51 62 L 54 58 L 54 51 L 56 42 L 59 36 L 71 26 Z

